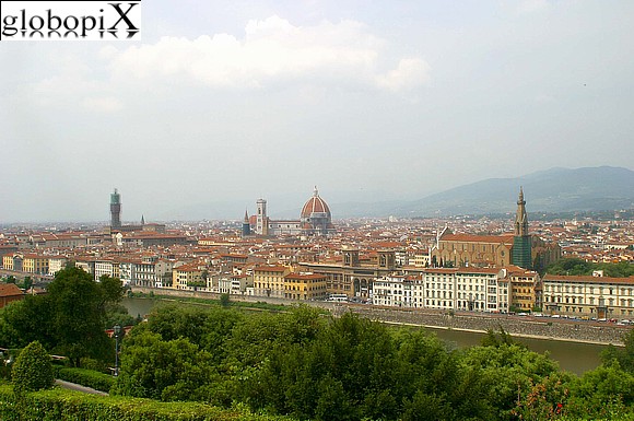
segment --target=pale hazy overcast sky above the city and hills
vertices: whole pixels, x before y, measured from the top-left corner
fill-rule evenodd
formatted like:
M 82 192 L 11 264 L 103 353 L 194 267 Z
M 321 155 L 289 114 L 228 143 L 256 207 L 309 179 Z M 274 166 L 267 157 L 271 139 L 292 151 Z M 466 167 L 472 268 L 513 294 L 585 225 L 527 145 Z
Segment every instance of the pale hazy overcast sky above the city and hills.
M 115 188 L 124 221 L 239 219 L 314 186 L 332 208 L 632 169 L 633 15 L 629 0 L 151 0 L 140 42 L 0 42 L 0 223 L 107 221 Z

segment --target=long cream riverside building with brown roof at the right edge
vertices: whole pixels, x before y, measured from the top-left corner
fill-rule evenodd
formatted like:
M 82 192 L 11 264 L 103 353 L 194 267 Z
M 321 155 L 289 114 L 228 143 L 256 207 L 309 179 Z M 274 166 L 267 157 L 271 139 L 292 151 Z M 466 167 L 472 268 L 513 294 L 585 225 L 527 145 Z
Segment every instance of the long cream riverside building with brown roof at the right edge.
M 544 312 L 596 318 L 634 316 L 634 277 L 545 274 L 542 283 Z

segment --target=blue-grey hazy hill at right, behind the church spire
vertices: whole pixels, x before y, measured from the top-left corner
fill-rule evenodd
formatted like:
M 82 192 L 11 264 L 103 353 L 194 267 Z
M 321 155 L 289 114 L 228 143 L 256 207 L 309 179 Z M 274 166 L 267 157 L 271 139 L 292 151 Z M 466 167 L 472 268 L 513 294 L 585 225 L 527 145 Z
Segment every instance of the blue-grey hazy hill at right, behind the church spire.
M 621 167 L 551 168 L 517 178 L 490 178 L 408 202 L 391 212 L 401 217 L 513 212 L 519 187 L 529 212 L 630 209 L 634 172 Z

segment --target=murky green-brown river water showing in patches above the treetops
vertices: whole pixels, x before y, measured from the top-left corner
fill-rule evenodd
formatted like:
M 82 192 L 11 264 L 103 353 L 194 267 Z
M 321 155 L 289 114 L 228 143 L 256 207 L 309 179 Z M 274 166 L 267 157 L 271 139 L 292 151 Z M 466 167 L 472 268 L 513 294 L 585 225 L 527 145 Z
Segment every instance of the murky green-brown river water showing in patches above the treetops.
M 131 316 L 137 317 L 139 315 L 144 316 L 149 314 L 158 303 L 162 302 L 149 299 L 124 299 L 121 304 L 128 308 L 128 313 Z M 443 339 L 451 347 L 458 348 L 478 346 L 484 336 L 484 334 L 472 331 L 446 329 L 428 330 L 434 332 L 438 338 Z M 550 358 L 557 361 L 561 369 L 577 375 L 582 375 L 587 371 L 598 367 L 600 364 L 599 353 L 606 349 L 606 346 L 594 343 L 518 337 L 514 337 L 514 339 L 526 344 L 531 351 L 539 353 L 548 351 Z

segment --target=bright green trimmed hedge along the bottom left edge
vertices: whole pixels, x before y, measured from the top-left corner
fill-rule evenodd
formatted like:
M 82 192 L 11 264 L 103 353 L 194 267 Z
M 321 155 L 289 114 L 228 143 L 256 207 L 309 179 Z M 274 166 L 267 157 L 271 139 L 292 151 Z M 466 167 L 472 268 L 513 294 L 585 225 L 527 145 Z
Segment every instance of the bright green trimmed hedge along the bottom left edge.
M 290 421 L 289 418 L 225 410 L 196 402 L 158 402 L 151 399 L 86 395 L 54 388 L 16 397 L 0 385 L 2 421 Z

